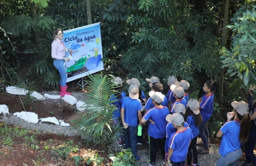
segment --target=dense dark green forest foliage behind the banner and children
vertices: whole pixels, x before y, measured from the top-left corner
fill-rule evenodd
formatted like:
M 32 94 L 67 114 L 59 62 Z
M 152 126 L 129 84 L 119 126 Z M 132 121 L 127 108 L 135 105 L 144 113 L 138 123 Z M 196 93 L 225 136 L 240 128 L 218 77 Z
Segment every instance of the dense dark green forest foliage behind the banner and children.
M 255 6 L 251 6 L 255 2 L 230 0 L 230 29 L 221 49 L 224 2 L 91 0 L 92 20 L 101 22 L 102 74 L 124 80 L 137 77 L 145 94 L 150 90 L 145 78 L 158 76 L 165 86 L 168 76 L 175 75 L 190 82 L 189 92 L 200 97 L 199 88 L 207 79 L 219 80 L 224 63 L 224 74 L 229 74 L 224 77 L 224 108 L 216 104 L 210 121 L 212 128 L 220 126 L 230 102 L 247 98 L 241 78 L 247 89 L 256 83 Z M 59 76 L 50 55 L 52 30 L 85 25 L 85 0 L 0 1 L 0 83 L 33 80 L 57 86 Z

